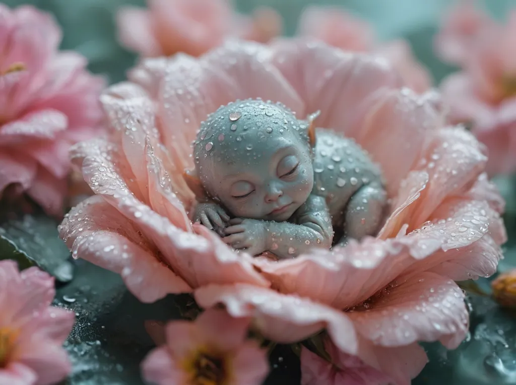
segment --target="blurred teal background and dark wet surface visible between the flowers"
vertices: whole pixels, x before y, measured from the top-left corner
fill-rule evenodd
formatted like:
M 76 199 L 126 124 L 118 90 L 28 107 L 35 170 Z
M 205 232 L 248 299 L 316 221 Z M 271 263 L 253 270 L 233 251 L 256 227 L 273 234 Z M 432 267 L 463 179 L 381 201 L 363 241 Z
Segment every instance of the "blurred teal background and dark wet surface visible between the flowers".
M 136 60 L 135 54 L 118 45 L 113 20 L 119 7 L 143 6 L 143 0 L 7 0 L 4 3 L 33 4 L 52 12 L 63 28 L 62 49 L 84 54 L 90 61 L 90 69 L 106 75 L 110 83 L 123 80 L 125 71 Z M 437 60 L 431 49 L 440 15 L 452 3 L 449 0 L 239 0 L 236 5 L 243 12 L 257 5 L 275 7 L 284 18 L 286 35 L 292 35 L 299 14 L 308 3 L 347 7 L 372 23 L 380 40 L 408 39 L 417 58 L 430 69 L 436 81 L 453 70 Z M 516 0 L 491 0 L 482 5 L 496 18 L 502 18 L 511 6 L 516 6 Z M 506 222 L 513 239 L 516 189 L 511 180 L 500 183 L 509 197 Z M 504 269 L 514 266 L 516 260 L 516 249 L 511 248 L 511 243 L 508 245 L 507 258 L 502 262 Z M 71 283 L 60 283 L 56 296 L 56 304 L 64 304 L 77 315 L 77 324 L 66 343 L 74 369 L 65 383 L 141 385 L 139 362 L 152 347 L 143 322 L 179 317 L 175 307 L 178 299 L 168 297 L 152 305 L 141 304 L 125 290 L 119 276 L 84 261 L 74 261 L 73 266 L 74 279 Z M 485 280 L 480 285 L 489 287 Z M 471 336 L 455 351 L 446 351 L 438 344 L 426 345 L 430 363 L 414 384 L 516 384 L 514 314 L 499 309 L 485 297 L 472 295 L 469 301 L 474 309 Z M 267 384 L 299 383 L 298 363 L 288 349 L 276 350 L 271 362 L 273 370 Z

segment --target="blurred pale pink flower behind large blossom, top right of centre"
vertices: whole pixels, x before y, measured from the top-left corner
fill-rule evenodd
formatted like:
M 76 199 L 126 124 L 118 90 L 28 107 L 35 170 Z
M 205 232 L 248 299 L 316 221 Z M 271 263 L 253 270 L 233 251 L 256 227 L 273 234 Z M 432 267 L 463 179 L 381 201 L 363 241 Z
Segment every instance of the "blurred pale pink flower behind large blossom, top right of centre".
M 389 60 L 404 78 L 405 85 L 418 93 L 432 86 L 425 67 L 413 56 L 405 40 L 378 43 L 373 27 L 341 7 L 309 6 L 301 14 L 298 35 L 315 38 L 352 52 L 371 52 Z

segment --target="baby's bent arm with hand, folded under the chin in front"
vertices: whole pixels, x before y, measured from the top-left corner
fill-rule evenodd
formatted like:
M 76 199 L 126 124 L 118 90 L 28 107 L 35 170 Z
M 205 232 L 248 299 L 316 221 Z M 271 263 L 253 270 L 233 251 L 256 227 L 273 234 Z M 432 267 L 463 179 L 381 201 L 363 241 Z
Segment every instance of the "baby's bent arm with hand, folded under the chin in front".
M 313 247 L 331 247 L 333 228 L 324 198 L 310 195 L 294 219 L 295 223 L 232 219 L 224 242 L 252 255 L 270 251 L 280 258 L 293 258 Z

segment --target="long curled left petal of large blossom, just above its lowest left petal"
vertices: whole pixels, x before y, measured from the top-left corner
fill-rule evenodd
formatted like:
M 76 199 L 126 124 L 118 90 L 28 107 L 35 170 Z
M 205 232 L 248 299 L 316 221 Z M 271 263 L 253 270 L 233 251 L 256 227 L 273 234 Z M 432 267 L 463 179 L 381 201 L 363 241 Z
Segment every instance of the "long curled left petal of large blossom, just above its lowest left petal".
M 163 217 L 139 201 L 101 146 L 102 142 L 98 146 L 89 143 L 88 146 L 80 146 L 75 155 L 72 154 L 79 165 L 80 159 L 85 156 L 82 162 L 85 180 L 90 181 L 95 194 L 102 195 L 127 220 L 137 224 L 163 255 L 164 262 L 170 264 L 190 286 L 228 282 L 268 284 L 254 271 L 250 256 L 238 255 L 219 237 L 187 233 L 174 225 L 182 226 L 184 216 L 181 219 Z M 189 258 L 185 259 L 184 255 Z

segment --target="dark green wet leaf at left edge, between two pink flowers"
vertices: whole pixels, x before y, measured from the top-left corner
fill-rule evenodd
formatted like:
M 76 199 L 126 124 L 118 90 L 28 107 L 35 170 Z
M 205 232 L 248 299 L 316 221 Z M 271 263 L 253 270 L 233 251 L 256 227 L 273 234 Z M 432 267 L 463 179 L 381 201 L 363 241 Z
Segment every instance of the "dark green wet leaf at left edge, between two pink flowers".
M 70 251 L 58 237 L 57 221 L 38 214 L 4 215 L 0 224 L 0 259 L 13 259 L 21 269 L 38 266 L 60 282 L 72 279 Z

